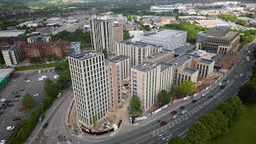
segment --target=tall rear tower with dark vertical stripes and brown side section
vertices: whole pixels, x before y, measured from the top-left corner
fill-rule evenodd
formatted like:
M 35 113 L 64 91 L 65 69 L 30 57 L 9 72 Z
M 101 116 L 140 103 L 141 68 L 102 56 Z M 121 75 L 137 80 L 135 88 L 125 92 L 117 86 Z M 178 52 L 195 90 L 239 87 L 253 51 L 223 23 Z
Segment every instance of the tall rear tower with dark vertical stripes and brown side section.
M 110 19 L 94 18 L 90 20 L 90 38 L 93 50 L 113 52 L 114 43 L 123 40 L 123 28 Z

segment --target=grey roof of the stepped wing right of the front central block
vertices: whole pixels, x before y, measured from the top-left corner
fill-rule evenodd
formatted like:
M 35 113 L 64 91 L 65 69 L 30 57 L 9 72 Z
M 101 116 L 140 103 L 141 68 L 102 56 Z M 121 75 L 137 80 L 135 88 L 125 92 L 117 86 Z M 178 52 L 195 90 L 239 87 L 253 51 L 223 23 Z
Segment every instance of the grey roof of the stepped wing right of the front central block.
M 193 54 L 182 54 L 182 55 L 178 56 L 177 58 L 174 58 L 173 60 L 171 60 L 170 62 L 167 62 L 167 63 L 180 67 L 186 61 L 190 60 L 191 58 L 197 59 L 197 58 L 200 58 L 200 56 L 193 55 Z

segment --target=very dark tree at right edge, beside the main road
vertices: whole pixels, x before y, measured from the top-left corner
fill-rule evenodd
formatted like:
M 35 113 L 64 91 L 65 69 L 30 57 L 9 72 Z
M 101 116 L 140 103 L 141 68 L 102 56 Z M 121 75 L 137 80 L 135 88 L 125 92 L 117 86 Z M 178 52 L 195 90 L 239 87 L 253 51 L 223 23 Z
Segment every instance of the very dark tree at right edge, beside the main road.
M 254 50 L 254 51 L 256 51 L 256 50 Z M 254 76 L 254 73 L 255 72 L 253 71 L 252 77 L 256 76 L 256 75 Z M 256 102 L 256 78 L 244 83 L 239 88 L 238 97 L 245 104 L 250 104 L 250 103 L 255 103 Z

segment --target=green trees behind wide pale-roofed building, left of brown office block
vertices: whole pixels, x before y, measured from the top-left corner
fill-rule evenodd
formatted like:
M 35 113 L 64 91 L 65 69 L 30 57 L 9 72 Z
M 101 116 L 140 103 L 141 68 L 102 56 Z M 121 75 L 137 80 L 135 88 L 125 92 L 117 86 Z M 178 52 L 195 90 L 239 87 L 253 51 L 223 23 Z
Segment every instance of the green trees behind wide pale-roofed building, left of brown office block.
M 190 42 L 190 43 L 196 42 L 198 32 L 208 30 L 205 27 L 197 26 L 189 22 L 181 22 L 179 24 L 167 24 L 163 27 L 166 29 L 186 30 L 187 31 L 186 42 Z

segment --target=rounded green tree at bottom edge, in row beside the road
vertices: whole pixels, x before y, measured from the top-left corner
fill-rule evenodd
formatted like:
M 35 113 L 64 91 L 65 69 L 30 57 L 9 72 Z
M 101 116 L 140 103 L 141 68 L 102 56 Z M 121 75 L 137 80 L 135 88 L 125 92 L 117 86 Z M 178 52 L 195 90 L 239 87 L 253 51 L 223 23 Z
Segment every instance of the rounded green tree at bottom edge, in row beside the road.
M 202 122 L 194 122 L 189 128 L 189 140 L 196 144 L 206 144 L 209 138 L 209 130 Z

